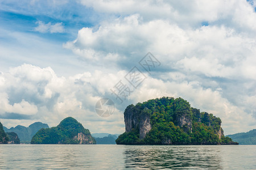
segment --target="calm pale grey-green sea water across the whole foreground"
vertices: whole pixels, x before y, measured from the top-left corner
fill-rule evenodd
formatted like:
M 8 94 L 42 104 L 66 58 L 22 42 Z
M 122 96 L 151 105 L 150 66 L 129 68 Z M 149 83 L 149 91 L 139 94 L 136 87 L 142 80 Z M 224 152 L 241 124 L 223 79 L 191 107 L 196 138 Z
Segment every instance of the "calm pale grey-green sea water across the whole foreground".
M 256 145 L 0 145 L 0 169 L 256 169 Z

